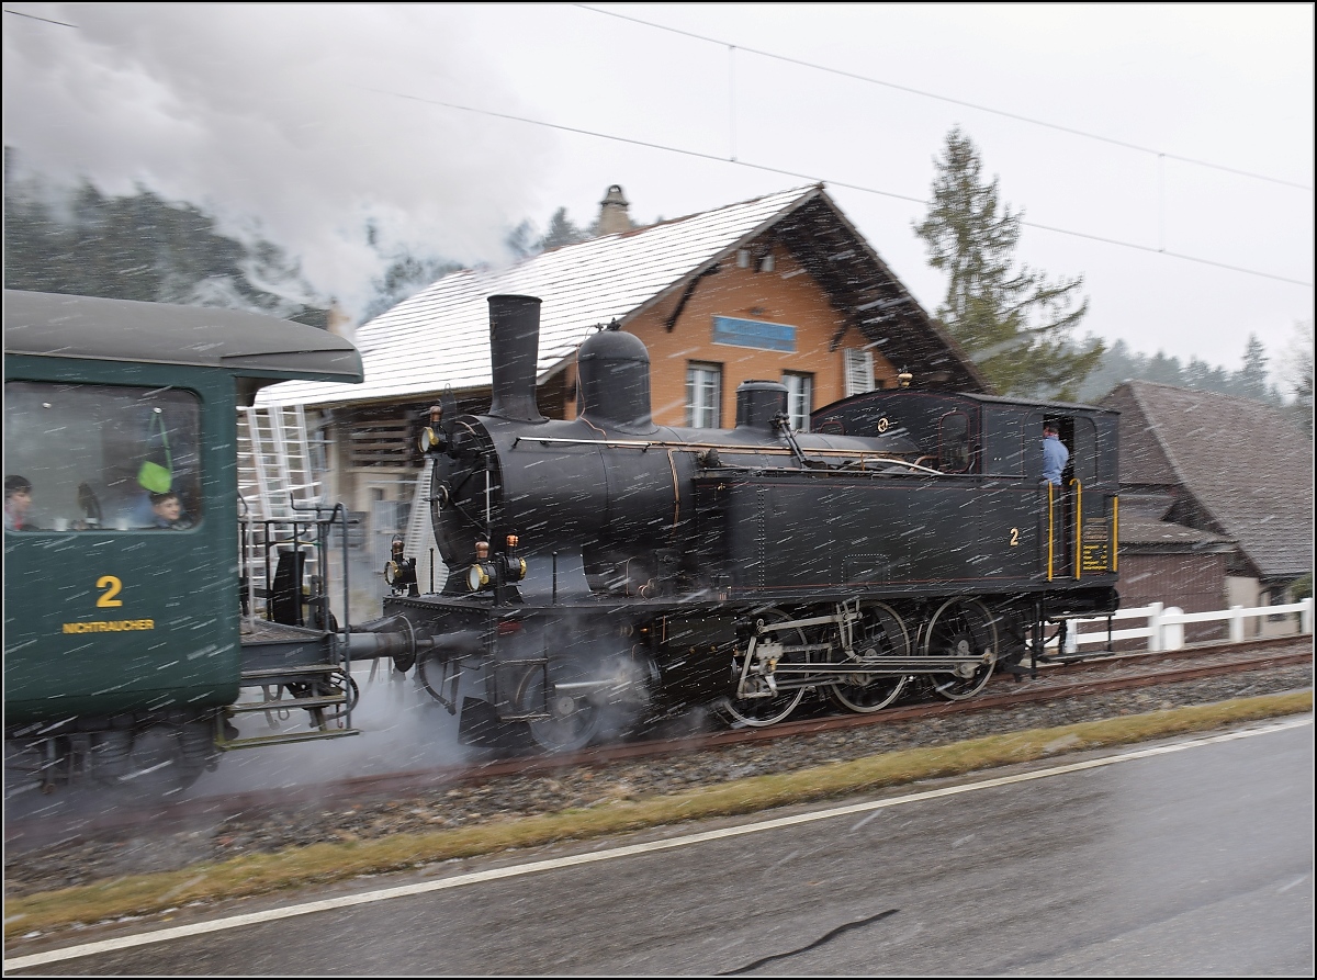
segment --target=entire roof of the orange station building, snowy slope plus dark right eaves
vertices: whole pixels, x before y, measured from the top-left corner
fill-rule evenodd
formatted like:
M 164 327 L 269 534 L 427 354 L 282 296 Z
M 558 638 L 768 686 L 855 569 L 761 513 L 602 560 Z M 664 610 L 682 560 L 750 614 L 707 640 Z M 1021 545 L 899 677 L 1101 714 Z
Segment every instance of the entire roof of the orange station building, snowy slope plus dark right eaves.
M 830 227 L 828 240 L 819 237 L 823 225 Z M 543 382 L 595 327 L 624 324 L 657 303 L 677 302 L 687 283 L 769 229 L 820 279 L 834 304 L 856 307 L 848 315 L 876 342 L 892 340 L 885 332 L 878 336 L 890 319 L 880 307 L 901 307 L 901 321 L 910 325 L 902 332 L 902 349 L 889 357 L 936 362 L 955 382 L 985 390 L 968 358 L 851 228 L 822 184 L 813 184 L 565 245 L 506 269 L 453 273 L 358 328 L 363 385 L 288 382 L 263 391 L 261 402 L 329 404 L 485 387 L 490 383 L 486 299 L 497 294 L 540 298 L 536 373 Z M 868 290 L 857 281 L 868 282 Z M 888 298 L 868 295 L 877 281 Z

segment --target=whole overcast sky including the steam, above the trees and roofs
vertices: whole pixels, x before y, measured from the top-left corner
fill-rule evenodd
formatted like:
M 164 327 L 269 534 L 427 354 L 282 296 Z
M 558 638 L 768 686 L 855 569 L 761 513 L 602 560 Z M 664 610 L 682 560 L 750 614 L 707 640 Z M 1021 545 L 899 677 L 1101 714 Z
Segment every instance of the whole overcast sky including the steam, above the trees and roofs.
M 959 125 L 1019 261 L 1084 277 L 1081 335 L 1235 369 L 1254 332 L 1276 368 L 1313 319 L 1313 4 L 4 9 L 26 165 L 259 219 L 352 308 L 367 217 L 498 263 L 612 183 L 648 223 L 823 180 L 934 312 L 911 224 Z

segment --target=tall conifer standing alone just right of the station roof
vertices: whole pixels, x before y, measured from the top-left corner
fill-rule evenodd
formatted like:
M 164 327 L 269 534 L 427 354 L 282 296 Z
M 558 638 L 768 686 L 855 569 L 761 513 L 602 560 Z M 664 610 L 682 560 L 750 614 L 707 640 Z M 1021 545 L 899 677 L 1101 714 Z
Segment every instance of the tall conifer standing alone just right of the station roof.
M 1050 282 L 1014 270 L 1022 212 L 1000 203 L 997 178 L 984 180 L 979 150 L 959 128 L 936 166 L 928 215 L 914 231 L 930 265 L 950 275 L 938 315 L 998 393 L 1075 398 L 1104 350 L 1096 339 L 1069 340 L 1088 312 L 1087 298 L 1076 306 L 1083 277 Z

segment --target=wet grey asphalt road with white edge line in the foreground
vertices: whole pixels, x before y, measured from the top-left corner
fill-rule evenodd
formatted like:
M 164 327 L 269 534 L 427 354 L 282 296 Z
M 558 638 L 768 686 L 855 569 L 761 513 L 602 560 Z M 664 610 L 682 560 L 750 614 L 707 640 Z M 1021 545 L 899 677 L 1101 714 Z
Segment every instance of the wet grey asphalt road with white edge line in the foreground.
M 78 940 L 30 964 L 42 947 L 20 944 L 5 972 L 1312 976 L 1313 726 L 453 861 Z M 134 944 L 96 946 L 115 942 Z

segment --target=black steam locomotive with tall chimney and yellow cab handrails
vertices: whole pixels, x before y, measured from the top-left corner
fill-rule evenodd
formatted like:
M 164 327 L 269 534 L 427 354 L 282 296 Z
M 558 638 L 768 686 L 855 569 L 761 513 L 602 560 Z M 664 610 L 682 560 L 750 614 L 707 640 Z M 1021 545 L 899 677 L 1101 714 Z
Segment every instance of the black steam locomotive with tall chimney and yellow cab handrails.
M 373 631 L 477 736 L 545 748 L 693 705 L 780 722 L 807 692 L 877 711 L 910 684 L 960 699 L 1031 669 L 1048 623 L 1115 611 L 1117 414 L 906 385 L 786 423 L 736 393 L 732 429 L 656 425 L 643 342 L 579 348 L 574 420 L 540 415 L 540 302 L 491 296 L 493 399 L 429 410 L 435 537 L 421 595 L 395 553 Z M 1042 428 L 1071 448 L 1040 478 Z M 1027 667 L 1023 664 L 1027 660 Z

